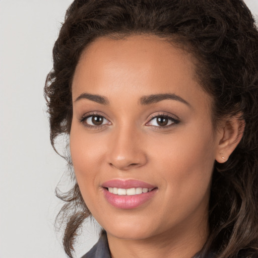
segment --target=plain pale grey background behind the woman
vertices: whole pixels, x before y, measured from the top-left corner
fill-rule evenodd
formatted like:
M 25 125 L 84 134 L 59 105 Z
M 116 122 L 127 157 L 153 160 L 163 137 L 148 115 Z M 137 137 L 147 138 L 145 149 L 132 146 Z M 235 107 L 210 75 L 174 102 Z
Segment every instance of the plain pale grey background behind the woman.
M 258 0 L 246 0 L 255 17 Z M 43 87 L 72 0 L 0 0 L 0 258 L 61 258 L 54 189 L 66 163 L 49 142 Z M 97 240 L 87 224 L 77 256 Z

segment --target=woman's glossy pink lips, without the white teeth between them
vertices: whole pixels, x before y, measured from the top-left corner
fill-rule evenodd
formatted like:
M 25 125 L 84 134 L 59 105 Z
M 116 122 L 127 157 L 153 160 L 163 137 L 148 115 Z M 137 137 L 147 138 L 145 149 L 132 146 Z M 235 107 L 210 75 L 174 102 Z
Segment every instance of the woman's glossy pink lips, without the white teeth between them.
M 120 209 L 133 209 L 137 208 L 148 200 L 150 200 L 155 193 L 157 192 L 157 187 L 151 185 L 149 183 L 130 179 L 130 180 L 120 180 L 120 179 L 113 179 L 106 181 L 102 184 L 104 197 L 108 203 L 112 206 Z M 133 196 L 126 196 L 126 195 L 115 195 L 108 191 L 108 187 L 116 187 L 116 188 L 123 188 L 123 189 L 130 189 L 130 188 L 154 188 L 152 191 L 148 191 L 146 193 L 141 193 L 140 195 L 133 195 Z

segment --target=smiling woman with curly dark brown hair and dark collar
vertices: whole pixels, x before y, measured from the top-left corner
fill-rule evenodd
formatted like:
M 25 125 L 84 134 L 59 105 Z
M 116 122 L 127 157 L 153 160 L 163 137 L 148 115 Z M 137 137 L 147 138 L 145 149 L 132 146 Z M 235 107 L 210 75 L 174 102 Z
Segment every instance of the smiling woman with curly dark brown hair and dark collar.
M 45 86 L 67 254 L 93 216 L 83 257 L 257 257 L 257 68 L 240 0 L 73 2 Z

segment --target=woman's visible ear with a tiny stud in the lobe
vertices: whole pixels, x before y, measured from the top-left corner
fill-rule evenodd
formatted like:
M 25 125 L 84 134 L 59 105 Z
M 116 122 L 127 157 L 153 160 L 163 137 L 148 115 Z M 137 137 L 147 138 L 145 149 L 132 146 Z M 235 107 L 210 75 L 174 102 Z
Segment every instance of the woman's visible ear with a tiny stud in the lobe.
M 217 147 L 216 160 L 224 163 L 230 154 L 239 144 L 245 127 L 244 119 L 240 115 L 235 115 L 225 120 L 219 130 L 219 144 Z

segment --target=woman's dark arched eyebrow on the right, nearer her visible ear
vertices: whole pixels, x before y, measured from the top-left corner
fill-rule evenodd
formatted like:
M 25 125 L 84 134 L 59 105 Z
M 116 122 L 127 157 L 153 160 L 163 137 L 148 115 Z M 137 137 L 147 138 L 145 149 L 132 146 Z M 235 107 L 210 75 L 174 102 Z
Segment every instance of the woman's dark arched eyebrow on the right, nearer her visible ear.
M 175 94 L 171 94 L 171 93 L 153 94 L 153 95 L 143 96 L 140 98 L 140 104 L 141 105 L 149 105 L 149 104 L 157 103 L 159 101 L 166 100 L 166 99 L 177 100 L 177 101 L 180 101 L 180 102 L 186 104 L 189 107 L 191 106 L 186 100 L 182 99 L 181 97 L 179 97 Z

